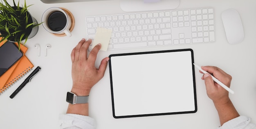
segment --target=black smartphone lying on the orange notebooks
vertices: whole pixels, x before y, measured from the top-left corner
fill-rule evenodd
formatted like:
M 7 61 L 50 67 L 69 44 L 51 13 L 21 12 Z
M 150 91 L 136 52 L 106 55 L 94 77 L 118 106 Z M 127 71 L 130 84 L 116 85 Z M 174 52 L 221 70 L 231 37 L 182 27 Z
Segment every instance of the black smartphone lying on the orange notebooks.
M 23 53 L 12 42 L 5 42 L 0 47 L 0 76 L 4 74 L 13 64 L 15 64 Z

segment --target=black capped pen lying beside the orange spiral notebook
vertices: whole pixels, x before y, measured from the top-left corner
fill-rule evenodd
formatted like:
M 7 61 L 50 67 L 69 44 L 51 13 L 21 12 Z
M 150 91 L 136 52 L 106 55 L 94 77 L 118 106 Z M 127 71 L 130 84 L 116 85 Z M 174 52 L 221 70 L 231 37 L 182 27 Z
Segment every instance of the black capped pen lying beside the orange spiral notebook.
M 23 88 L 25 85 L 31 81 L 31 79 L 41 70 L 41 68 L 38 66 L 36 69 L 25 79 L 24 82 L 11 94 L 10 98 L 13 98 L 16 96 L 16 94 Z

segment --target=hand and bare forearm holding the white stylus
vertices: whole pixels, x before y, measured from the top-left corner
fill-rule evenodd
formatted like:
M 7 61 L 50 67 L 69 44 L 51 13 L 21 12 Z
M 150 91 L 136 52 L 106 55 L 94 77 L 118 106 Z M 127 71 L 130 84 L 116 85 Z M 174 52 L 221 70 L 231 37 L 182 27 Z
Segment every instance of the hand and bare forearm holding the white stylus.
M 218 67 L 203 66 L 202 69 L 208 72 L 202 76 L 202 79 L 205 82 L 207 95 L 209 98 L 211 98 L 211 100 L 213 100 L 213 103 L 218 111 L 220 125 L 223 125 L 225 122 L 240 116 L 229 99 L 229 92 L 214 82 L 210 74 L 220 80 L 220 82 L 225 84 L 227 87 L 230 87 L 232 77 Z M 202 71 L 200 71 L 200 73 L 202 73 Z

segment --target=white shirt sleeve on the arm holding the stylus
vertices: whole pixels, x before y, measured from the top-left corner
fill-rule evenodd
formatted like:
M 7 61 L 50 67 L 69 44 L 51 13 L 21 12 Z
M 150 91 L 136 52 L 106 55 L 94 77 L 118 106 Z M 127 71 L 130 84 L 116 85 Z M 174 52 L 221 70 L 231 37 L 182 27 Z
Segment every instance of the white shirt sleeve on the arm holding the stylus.
M 251 118 L 246 116 L 239 116 L 228 122 L 225 122 L 218 129 L 256 129 L 256 125 L 251 122 Z

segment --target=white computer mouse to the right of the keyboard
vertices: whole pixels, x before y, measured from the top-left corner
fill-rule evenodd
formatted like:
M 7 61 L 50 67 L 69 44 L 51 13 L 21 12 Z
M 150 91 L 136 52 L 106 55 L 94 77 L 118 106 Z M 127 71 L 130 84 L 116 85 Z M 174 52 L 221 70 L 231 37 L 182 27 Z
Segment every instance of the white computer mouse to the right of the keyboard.
M 230 44 L 238 44 L 242 42 L 244 39 L 244 29 L 238 11 L 235 9 L 227 9 L 222 12 L 221 18 L 227 41 Z

